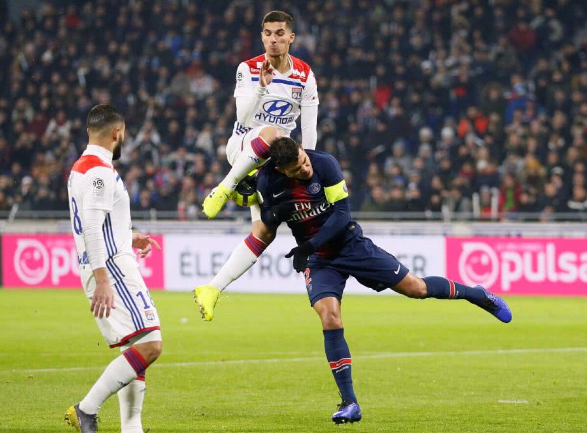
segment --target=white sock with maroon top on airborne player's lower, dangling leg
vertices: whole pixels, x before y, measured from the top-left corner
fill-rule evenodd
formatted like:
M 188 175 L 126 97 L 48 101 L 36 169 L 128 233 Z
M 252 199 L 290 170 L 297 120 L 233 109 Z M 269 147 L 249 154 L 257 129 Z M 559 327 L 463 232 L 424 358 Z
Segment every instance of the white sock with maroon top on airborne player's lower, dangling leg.
M 210 281 L 210 285 L 220 291 L 224 290 L 228 284 L 244 274 L 257 262 L 258 257 L 261 256 L 266 247 L 263 241 L 257 239 L 252 233 L 249 234 L 232 251 L 224 266 L 222 266 L 220 271 Z

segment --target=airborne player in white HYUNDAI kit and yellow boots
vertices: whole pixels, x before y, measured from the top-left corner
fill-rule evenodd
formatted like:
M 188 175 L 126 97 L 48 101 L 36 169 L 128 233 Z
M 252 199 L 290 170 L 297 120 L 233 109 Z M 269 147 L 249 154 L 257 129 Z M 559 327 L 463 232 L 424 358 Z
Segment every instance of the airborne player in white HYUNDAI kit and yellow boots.
M 237 69 L 234 98 L 237 121 L 228 140 L 227 159 L 232 169 L 204 200 L 204 213 L 217 216 L 237 184 L 269 157 L 269 143 L 289 136 L 301 116 L 302 143 L 316 147 L 318 89 L 308 63 L 289 55 L 295 39 L 292 17 L 282 11 L 265 15 L 261 40 L 265 53 L 242 62 Z M 205 286 L 195 288 L 204 320 L 212 320 L 220 292 L 245 273 L 275 239 L 275 229 L 261 221 L 258 204 L 251 206 L 252 231 Z

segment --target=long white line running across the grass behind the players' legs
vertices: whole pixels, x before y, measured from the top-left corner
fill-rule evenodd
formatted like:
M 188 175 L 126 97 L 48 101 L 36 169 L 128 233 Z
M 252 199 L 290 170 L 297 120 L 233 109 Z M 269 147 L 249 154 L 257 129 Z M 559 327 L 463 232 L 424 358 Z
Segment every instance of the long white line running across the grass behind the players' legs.
M 411 357 L 433 357 L 433 356 L 467 356 L 467 355 L 514 355 L 526 353 L 573 353 L 587 352 L 587 347 L 544 347 L 529 349 L 494 349 L 494 350 L 463 350 L 444 352 L 383 352 L 373 355 L 355 355 L 353 358 L 359 360 L 377 360 L 382 358 L 411 358 Z M 192 362 L 160 362 L 149 368 L 168 367 L 198 367 L 200 365 L 242 365 L 242 364 L 272 364 L 275 362 L 309 362 L 323 361 L 324 357 L 306 358 L 262 358 L 252 360 L 227 360 L 227 361 L 192 361 Z M 103 370 L 104 365 L 95 367 L 64 367 L 64 368 L 33 368 L 29 370 L 0 370 L 0 373 L 52 373 L 59 371 L 87 371 Z

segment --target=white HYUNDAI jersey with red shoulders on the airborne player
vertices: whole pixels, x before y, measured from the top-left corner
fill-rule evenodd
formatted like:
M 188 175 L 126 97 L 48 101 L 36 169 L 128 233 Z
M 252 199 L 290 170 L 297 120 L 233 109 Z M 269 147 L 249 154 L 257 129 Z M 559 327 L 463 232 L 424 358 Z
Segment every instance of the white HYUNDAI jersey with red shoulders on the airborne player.
M 308 63 L 289 57 L 289 71 L 274 72 L 273 81 L 261 100 L 259 111 L 251 125 L 234 123 L 232 135 L 243 135 L 255 126 L 276 126 L 286 135 L 295 129 L 295 122 L 299 118 L 302 106 L 318 105 L 318 88 L 316 78 Z M 259 87 L 259 73 L 265 54 L 242 62 L 237 69 L 237 85 L 234 97 L 250 96 L 254 98 Z

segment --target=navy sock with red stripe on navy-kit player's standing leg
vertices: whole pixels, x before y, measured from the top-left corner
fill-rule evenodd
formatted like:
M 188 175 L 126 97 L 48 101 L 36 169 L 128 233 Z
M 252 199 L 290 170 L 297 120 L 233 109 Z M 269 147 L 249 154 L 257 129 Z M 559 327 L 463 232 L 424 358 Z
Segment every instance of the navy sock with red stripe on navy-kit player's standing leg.
M 326 359 L 330 363 L 330 370 L 332 370 L 342 400 L 356 403 L 357 398 L 355 390 L 353 390 L 350 351 L 345 340 L 345 329 L 328 329 L 322 332 L 324 333 Z

